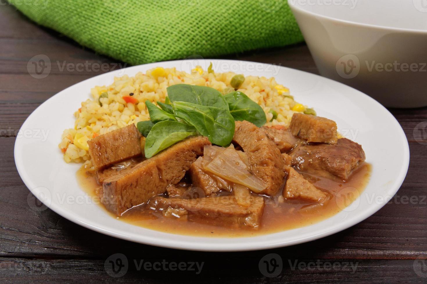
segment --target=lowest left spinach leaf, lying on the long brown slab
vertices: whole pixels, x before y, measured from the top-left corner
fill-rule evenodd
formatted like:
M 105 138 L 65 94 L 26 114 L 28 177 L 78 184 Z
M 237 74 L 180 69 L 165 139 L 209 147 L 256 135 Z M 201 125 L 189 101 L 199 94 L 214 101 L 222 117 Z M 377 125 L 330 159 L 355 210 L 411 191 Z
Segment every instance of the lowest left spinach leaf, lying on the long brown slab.
M 145 141 L 145 156 L 151 158 L 161 150 L 172 146 L 190 135 L 197 135 L 193 126 L 173 120 L 164 120 L 156 123 Z

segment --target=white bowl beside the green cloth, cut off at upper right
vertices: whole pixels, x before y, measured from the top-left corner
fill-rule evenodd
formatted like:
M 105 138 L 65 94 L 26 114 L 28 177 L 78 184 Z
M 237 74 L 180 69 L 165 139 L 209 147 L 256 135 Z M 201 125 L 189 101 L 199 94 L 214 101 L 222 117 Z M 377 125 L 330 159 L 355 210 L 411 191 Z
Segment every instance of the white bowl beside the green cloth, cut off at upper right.
M 427 106 L 427 0 L 288 0 L 322 76 Z

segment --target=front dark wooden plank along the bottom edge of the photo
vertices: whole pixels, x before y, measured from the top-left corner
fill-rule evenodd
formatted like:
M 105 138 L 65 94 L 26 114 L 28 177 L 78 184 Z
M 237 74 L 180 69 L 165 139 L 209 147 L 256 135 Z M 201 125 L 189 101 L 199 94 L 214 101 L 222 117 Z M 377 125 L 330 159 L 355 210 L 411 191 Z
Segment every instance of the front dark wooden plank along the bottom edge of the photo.
M 121 270 L 114 274 L 108 261 L 122 262 Z M 271 259 L 267 256 L 266 259 Z M 376 259 L 293 259 L 287 255 L 276 256 L 282 267 L 266 272 L 261 258 L 249 257 L 239 261 L 217 261 L 208 256 L 199 258 L 147 258 L 145 256 L 102 260 L 82 259 L 23 259 L 0 258 L 3 283 L 28 283 L 29 281 L 102 281 L 107 283 L 425 283 L 422 260 Z M 198 263 L 193 265 L 191 263 Z M 147 265 L 148 263 L 148 265 Z M 155 264 L 158 263 L 158 264 Z M 181 264 L 181 270 L 174 265 Z M 155 271 L 151 266 L 155 265 Z M 144 267 L 144 265 L 146 265 Z M 171 266 L 172 265 L 172 266 Z M 307 267 L 308 266 L 308 267 Z M 184 269 L 184 267 L 190 270 Z M 261 267 L 261 268 L 260 268 Z M 233 278 L 229 270 L 233 271 Z M 77 272 L 77 273 L 76 273 Z M 264 274 L 263 274 L 264 273 Z M 275 275 L 277 273 L 278 275 Z M 111 277 L 114 275 L 116 277 Z M 273 276 L 273 277 L 266 277 Z M 203 280 L 202 280 L 203 279 Z

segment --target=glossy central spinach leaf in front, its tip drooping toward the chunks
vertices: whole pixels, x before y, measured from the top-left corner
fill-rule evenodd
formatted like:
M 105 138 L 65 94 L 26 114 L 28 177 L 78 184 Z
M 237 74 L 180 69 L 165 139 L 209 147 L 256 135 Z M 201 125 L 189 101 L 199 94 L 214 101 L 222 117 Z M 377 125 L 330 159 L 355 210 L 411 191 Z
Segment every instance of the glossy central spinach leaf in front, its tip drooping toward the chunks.
M 209 141 L 219 146 L 227 146 L 234 136 L 234 119 L 228 109 L 213 106 L 201 106 L 188 102 L 173 102 L 173 111 L 193 125 L 200 134 L 207 136 Z

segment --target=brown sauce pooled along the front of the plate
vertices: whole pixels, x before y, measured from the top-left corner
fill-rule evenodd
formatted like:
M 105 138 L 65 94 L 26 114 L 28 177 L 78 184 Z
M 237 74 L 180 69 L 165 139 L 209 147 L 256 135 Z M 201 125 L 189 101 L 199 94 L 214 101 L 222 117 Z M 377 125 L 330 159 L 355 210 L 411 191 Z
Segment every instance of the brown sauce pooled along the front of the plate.
M 144 205 L 129 209 L 120 220 L 135 226 L 180 235 L 201 237 L 250 237 L 280 232 L 318 223 L 348 207 L 366 187 L 369 181 L 371 166 L 363 164 L 353 173 L 348 181 L 331 180 L 304 173 L 317 188 L 329 192 L 330 199 L 324 204 L 312 204 L 296 200 L 282 200 L 278 197 L 266 199 L 266 205 L 258 229 L 235 229 L 181 221 L 175 218 L 153 215 L 152 210 Z M 99 188 L 95 175 L 89 175 L 82 167 L 77 172 L 77 180 L 89 195 L 97 195 Z M 99 206 L 103 207 L 102 204 Z M 111 214 L 111 213 L 110 213 Z M 112 218 L 117 216 L 111 214 Z

